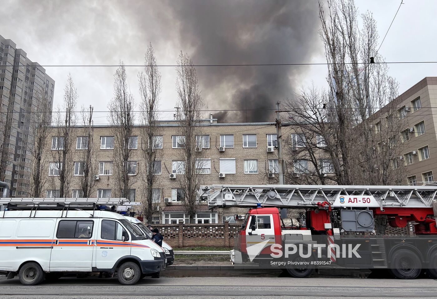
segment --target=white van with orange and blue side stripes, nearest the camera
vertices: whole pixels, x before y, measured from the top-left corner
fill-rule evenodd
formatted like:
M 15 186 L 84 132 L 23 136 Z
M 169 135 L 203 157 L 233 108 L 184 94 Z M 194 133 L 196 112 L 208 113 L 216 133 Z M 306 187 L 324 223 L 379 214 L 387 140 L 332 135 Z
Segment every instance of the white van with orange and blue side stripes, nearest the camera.
M 110 211 L 1 211 L 0 273 L 24 285 L 101 272 L 133 285 L 166 267 L 163 249 Z

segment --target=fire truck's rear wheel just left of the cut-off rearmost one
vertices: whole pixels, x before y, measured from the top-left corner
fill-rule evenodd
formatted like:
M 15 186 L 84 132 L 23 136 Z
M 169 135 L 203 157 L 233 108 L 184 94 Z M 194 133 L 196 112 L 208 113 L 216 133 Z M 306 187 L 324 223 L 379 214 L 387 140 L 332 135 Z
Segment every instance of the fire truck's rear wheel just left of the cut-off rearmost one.
M 416 279 L 422 267 L 420 258 L 407 249 L 395 251 L 390 263 L 390 272 L 399 279 Z

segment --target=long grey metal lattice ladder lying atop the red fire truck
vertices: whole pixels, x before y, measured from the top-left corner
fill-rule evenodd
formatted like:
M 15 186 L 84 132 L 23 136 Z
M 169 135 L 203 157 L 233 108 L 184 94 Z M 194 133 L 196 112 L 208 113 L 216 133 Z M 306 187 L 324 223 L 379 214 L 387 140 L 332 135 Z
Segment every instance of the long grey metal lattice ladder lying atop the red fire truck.
M 433 207 L 437 186 L 330 186 L 330 185 L 212 185 L 201 186 L 200 200 L 208 207 L 305 208 L 318 202 L 333 204 L 340 195 L 371 195 L 384 207 Z

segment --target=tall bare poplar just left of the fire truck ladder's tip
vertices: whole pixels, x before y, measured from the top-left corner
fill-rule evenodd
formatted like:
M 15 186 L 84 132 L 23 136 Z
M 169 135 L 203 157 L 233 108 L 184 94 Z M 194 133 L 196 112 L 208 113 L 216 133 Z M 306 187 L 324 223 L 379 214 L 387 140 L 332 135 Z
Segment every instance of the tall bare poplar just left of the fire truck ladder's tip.
M 201 159 L 202 151 L 196 150 L 196 147 L 201 147 L 200 143 L 202 143 L 201 140 L 196 140 L 199 138 L 196 136 L 201 136 L 202 133 L 200 110 L 203 100 L 191 58 L 181 51 L 177 59 L 177 65 L 176 91 L 178 95 L 177 105 L 180 110 L 176 114 L 179 124 L 177 127 L 178 140 L 176 142 L 180 143 L 180 147 L 182 147 L 182 163 L 176 167 L 182 170 L 177 172 L 184 173 L 184 175 L 177 176 L 177 180 L 180 188 L 185 193 L 183 200 L 185 211 L 190 217 L 190 222 L 194 222 L 194 216 L 198 209 L 196 201 L 197 188 L 201 183 L 202 164 L 205 163 L 205 160 Z

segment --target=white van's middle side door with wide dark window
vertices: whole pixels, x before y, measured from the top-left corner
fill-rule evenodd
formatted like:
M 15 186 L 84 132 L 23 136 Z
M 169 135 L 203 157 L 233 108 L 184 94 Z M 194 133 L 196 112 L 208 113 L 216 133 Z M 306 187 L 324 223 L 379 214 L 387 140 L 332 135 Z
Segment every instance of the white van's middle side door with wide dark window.
M 91 271 L 94 220 L 58 220 L 50 271 Z

